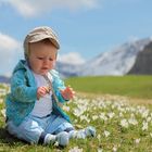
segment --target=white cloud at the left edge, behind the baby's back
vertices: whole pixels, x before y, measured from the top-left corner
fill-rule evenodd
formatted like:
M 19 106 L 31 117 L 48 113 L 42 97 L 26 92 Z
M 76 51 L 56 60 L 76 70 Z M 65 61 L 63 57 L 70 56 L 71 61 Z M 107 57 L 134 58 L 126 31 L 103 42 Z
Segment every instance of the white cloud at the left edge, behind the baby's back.
M 0 75 L 11 75 L 13 67 L 22 56 L 21 48 L 17 40 L 0 33 Z

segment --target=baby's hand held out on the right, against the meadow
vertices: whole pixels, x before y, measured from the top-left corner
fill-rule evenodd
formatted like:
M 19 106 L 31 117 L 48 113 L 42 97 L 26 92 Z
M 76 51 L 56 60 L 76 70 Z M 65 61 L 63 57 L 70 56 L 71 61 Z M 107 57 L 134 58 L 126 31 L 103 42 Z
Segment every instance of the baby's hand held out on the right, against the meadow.
M 66 87 L 64 90 L 61 90 L 61 94 L 65 100 L 71 100 L 75 96 L 75 91 L 71 87 Z

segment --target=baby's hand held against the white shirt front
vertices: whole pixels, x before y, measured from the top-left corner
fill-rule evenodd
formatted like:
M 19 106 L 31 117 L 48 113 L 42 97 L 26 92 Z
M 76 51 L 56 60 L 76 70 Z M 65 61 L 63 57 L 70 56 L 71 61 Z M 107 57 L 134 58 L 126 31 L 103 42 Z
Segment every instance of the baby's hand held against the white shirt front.
M 40 99 L 42 97 L 45 97 L 47 93 L 49 93 L 49 88 L 46 86 L 42 87 L 38 87 L 37 89 L 37 99 Z

